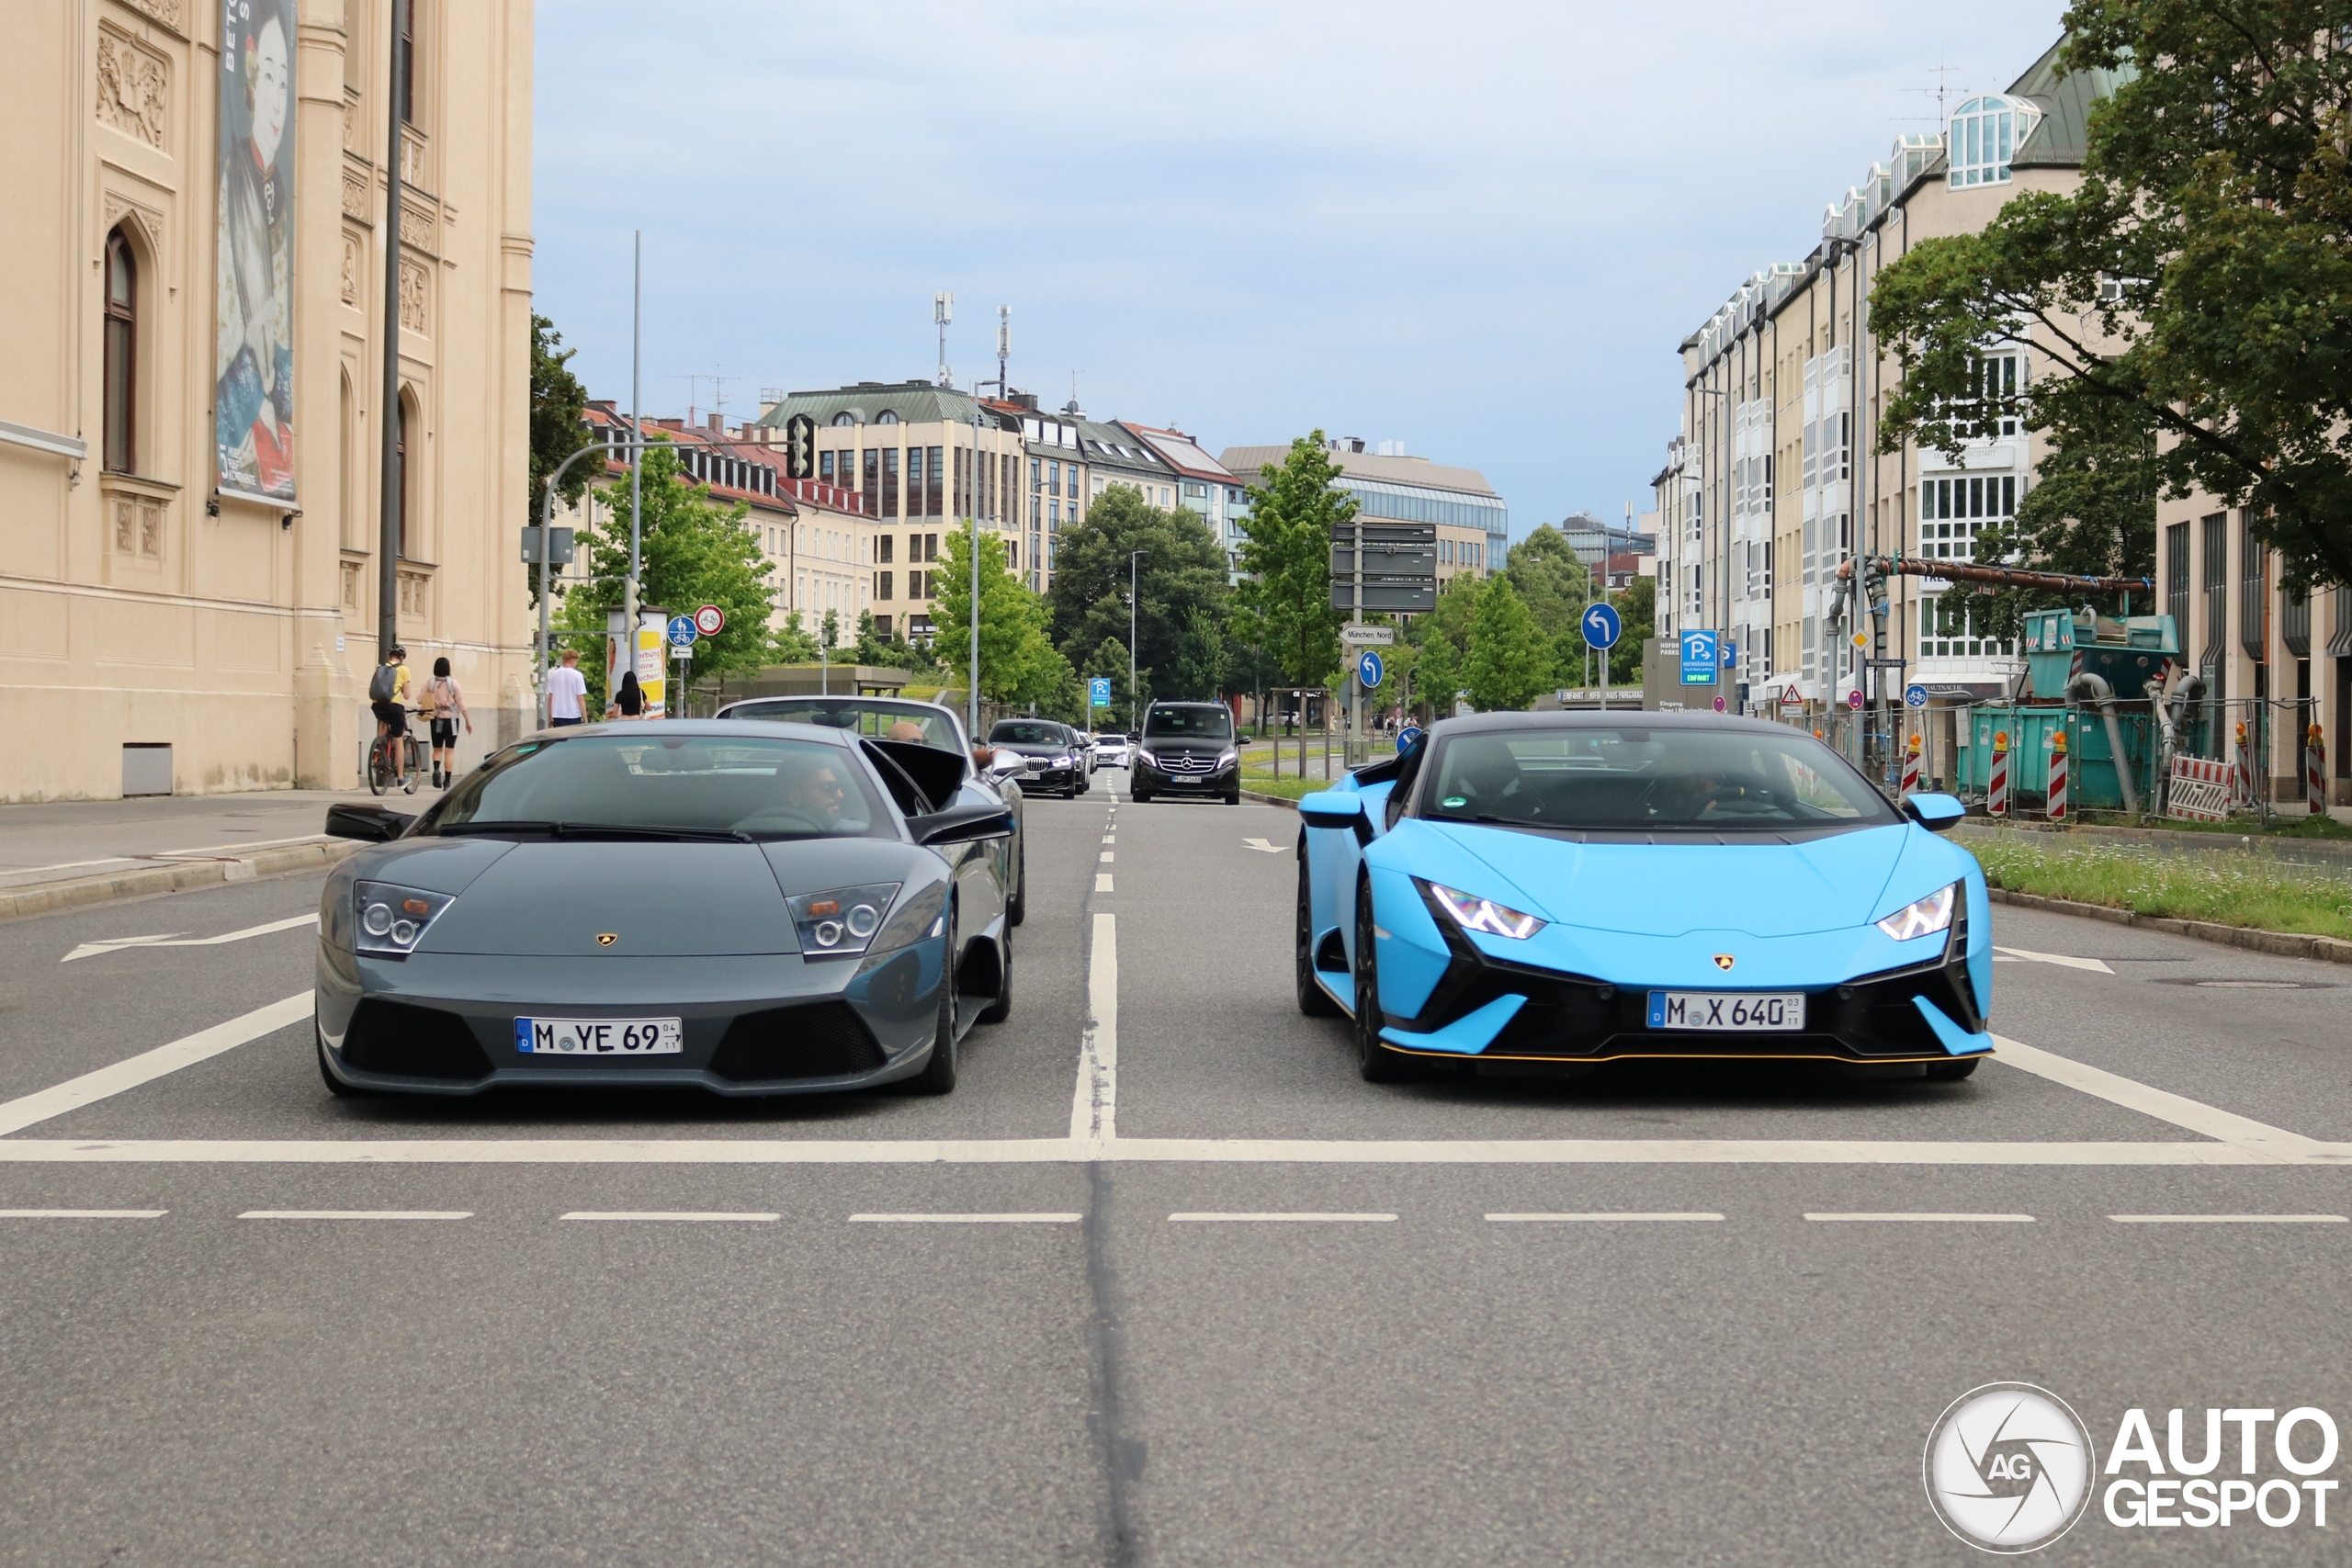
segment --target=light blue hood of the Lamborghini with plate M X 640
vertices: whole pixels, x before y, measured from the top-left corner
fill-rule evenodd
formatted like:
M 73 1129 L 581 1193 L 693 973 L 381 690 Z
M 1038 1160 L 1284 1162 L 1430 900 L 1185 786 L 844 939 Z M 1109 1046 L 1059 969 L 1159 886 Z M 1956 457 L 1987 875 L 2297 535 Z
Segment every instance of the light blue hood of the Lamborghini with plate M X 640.
M 1962 875 L 1936 853 L 1950 846 L 1900 823 L 1795 844 L 1578 844 L 1508 827 L 1425 825 L 1517 889 L 1529 914 L 1632 936 L 1839 931 L 1886 912 L 1898 865 L 1940 875 L 1933 886 Z

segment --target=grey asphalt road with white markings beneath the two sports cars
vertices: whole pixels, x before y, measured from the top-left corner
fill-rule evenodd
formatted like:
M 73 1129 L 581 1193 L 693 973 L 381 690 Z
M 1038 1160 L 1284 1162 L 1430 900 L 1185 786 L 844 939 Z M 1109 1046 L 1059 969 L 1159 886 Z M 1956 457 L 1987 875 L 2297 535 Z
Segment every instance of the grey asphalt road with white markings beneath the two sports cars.
M 2023 1048 L 1964 1084 L 1371 1086 L 1291 1004 L 1296 816 L 1028 823 L 946 1100 L 350 1103 L 296 1023 L 68 1105 L 315 938 L 68 954 L 318 879 L 0 926 L 0 1563 L 1959 1563 L 1922 1446 L 1978 1385 L 2100 1462 L 2352 1420 L 2343 969 L 1997 910 Z M 379 1218 L 252 1218 L 320 1211 Z M 2347 1519 L 2093 1502 L 2044 1559 Z

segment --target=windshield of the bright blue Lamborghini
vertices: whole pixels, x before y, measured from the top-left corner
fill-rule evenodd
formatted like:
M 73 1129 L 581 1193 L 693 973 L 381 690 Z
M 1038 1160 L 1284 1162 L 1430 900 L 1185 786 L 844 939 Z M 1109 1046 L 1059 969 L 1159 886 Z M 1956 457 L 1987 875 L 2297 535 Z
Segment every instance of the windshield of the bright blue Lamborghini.
M 1512 729 L 1446 736 L 1421 816 L 1592 830 L 1865 827 L 1900 820 L 1820 741 L 1762 729 Z

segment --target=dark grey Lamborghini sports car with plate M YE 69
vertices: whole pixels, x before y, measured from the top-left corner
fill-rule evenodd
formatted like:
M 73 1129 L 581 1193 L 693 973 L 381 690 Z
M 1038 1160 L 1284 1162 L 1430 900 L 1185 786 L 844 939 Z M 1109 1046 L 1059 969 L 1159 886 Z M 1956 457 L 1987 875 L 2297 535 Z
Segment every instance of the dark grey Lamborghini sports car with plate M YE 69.
M 818 724 L 543 731 L 327 877 L 318 1060 L 336 1093 L 955 1088 L 1011 1011 L 1000 853 L 967 755 Z

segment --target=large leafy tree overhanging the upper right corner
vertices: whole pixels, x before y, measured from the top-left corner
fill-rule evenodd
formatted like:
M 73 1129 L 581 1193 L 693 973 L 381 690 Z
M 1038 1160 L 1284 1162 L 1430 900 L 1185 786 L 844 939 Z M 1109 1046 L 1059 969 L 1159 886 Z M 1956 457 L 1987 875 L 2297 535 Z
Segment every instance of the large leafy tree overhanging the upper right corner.
M 2145 468 L 2249 508 L 2288 585 L 2352 581 L 2347 21 L 2343 0 L 2077 0 L 2060 66 L 2103 94 L 2082 183 L 1915 244 L 1872 287 L 1905 371 L 1886 449 L 2023 421 L 2077 480 L 2004 541 L 2027 555 L 2098 557 L 2114 527 L 2107 559 L 2136 559 Z M 1987 376 L 2013 348 L 2032 386 Z

